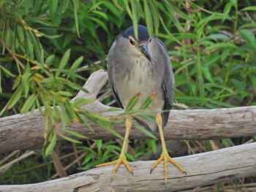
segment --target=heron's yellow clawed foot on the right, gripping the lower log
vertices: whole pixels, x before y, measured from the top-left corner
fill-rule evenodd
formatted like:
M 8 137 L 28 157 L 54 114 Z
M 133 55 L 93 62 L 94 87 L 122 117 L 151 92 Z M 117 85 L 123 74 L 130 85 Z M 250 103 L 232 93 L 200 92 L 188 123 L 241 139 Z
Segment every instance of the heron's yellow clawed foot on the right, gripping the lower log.
M 173 158 L 170 158 L 170 156 L 168 155 L 168 153 L 162 153 L 162 155 L 160 156 L 159 159 L 157 159 L 157 161 L 154 163 L 154 165 L 151 168 L 151 172 L 153 172 L 153 170 L 157 167 L 157 165 L 159 163 L 161 163 L 161 161 L 164 161 L 164 171 L 165 171 L 165 186 L 167 185 L 167 162 L 172 163 L 174 166 L 176 166 L 182 173 L 187 174 L 184 169 L 181 168 L 181 166 L 173 160 Z

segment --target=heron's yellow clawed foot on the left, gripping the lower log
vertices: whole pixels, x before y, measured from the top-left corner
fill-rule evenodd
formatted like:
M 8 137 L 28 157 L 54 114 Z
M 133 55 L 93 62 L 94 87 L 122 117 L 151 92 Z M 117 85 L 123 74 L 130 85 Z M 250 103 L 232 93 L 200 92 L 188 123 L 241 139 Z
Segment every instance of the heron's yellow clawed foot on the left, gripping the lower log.
M 116 161 L 108 162 L 105 164 L 99 164 L 96 167 L 108 166 L 108 165 L 114 165 L 114 164 L 116 164 L 116 166 L 113 169 L 113 172 L 111 174 L 111 182 L 112 182 L 113 178 L 115 177 L 115 174 L 116 174 L 118 168 L 121 166 L 121 164 L 124 164 L 124 166 L 127 168 L 128 172 L 130 172 L 133 176 L 132 169 L 129 167 L 129 162 L 127 161 L 127 158 L 125 155 L 120 155 Z

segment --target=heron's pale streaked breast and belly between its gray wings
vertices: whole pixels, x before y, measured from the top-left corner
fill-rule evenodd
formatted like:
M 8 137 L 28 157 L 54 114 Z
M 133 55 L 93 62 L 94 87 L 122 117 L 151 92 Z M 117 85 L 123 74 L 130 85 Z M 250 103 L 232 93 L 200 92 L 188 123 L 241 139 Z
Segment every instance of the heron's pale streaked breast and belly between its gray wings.
M 140 100 L 134 109 L 139 109 L 151 93 L 156 93 L 154 100 L 148 106 L 149 111 L 162 110 L 164 100 L 162 92 L 162 77 L 157 76 L 153 63 L 145 58 L 135 59 L 130 64 L 122 66 L 113 74 L 113 84 L 115 85 L 118 97 L 124 108 L 127 107 L 129 100 L 137 93 L 140 93 Z M 120 72 L 118 72 L 120 70 Z M 120 74 L 122 74 L 121 77 Z M 118 75 L 119 74 L 119 75 Z

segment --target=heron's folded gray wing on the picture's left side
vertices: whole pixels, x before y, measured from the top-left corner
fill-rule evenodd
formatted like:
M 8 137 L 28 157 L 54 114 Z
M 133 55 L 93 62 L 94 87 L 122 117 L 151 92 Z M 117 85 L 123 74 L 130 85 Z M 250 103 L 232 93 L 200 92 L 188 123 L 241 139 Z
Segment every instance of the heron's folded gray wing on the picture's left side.
M 117 37 L 118 38 L 118 37 Z M 113 72 L 113 64 L 115 62 L 115 59 L 113 57 L 113 54 L 114 54 L 114 50 L 115 50 L 115 47 L 116 47 L 116 41 L 113 42 L 113 44 L 111 45 L 110 47 L 110 50 L 108 52 L 108 81 L 109 81 L 109 84 L 110 84 L 110 88 L 111 88 L 111 91 L 113 93 L 113 96 L 114 98 L 116 99 L 116 102 L 118 103 L 118 105 L 124 109 L 123 105 L 121 104 L 121 101 L 118 97 L 118 94 L 116 93 L 116 89 L 115 89 L 115 86 L 113 84 L 113 75 L 112 75 L 112 72 Z

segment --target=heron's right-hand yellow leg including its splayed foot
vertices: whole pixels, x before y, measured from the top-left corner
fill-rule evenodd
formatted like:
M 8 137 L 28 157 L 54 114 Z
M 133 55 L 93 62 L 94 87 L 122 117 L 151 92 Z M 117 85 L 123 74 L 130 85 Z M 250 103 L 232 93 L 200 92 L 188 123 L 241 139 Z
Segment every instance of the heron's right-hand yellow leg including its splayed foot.
M 166 146 L 165 146 L 165 138 L 164 138 L 164 134 L 162 131 L 162 116 L 161 113 L 157 113 L 157 118 L 156 118 L 156 123 L 159 129 L 159 134 L 160 134 L 160 138 L 161 138 L 161 142 L 162 142 L 162 155 L 160 156 L 159 159 L 157 159 L 157 161 L 154 163 L 154 165 L 151 168 L 151 172 L 153 172 L 153 170 L 156 168 L 156 166 L 161 162 L 164 161 L 164 171 L 165 171 L 165 185 L 167 185 L 167 162 L 172 163 L 174 166 L 177 166 L 178 169 L 184 173 L 187 174 L 184 169 L 181 168 L 181 166 L 173 160 L 173 158 L 170 158 L 170 156 L 168 155 Z

